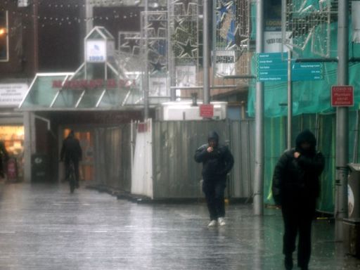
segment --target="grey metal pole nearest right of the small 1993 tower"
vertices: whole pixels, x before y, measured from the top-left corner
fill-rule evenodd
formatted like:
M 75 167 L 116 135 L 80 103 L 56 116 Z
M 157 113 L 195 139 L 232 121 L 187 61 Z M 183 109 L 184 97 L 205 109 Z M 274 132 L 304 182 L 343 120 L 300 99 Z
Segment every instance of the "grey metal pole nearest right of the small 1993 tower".
M 149 117 L 149 67 L 148 67 L 148 0 L 145 0 L 145 16 L 144 16 L 143 31 L 145 33 L 145 48 L 144 48 L 144 65 L 145 65 L 145 79 L 143 85 L 143 120 L 146 121 Z

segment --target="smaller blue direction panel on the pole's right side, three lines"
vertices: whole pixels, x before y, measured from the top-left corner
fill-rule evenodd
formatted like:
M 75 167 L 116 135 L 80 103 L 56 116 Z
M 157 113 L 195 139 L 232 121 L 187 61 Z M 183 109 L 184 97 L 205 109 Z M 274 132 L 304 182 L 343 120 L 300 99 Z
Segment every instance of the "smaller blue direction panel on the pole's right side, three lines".
M 291 63 L 292 81 L 316 81 L 323 79 L 323 63 Z

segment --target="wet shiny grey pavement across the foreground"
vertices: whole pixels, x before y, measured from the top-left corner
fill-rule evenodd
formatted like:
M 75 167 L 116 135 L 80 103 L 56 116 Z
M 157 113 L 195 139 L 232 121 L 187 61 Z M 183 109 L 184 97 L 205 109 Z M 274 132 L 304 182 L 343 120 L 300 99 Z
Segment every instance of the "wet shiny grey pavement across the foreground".
M 254 217 L 252 205 L 228 205 L 226 221 L 208 229 L 204 203 L 137 204 L 86 188 L 70 194 L 66 184 L 0 183 L 0 269 L 283 269 L 279 210 Z M 310 269 L 360 269 L 333 239 L 334 224 L 314 222 Z

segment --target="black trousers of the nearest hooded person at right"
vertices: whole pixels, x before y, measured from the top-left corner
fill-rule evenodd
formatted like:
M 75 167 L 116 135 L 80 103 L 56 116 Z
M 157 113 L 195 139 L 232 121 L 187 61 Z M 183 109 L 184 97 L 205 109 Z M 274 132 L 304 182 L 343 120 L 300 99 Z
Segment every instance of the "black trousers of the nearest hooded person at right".
M 315 207 L 303 202 L 302 205 L 283 205 L 283 221 L 285 233 L 283 235 L 283 254 L 292 256 L 297 244 L 297 265 L 307 267 L 311 256 L 311 223 L 314 218 Z

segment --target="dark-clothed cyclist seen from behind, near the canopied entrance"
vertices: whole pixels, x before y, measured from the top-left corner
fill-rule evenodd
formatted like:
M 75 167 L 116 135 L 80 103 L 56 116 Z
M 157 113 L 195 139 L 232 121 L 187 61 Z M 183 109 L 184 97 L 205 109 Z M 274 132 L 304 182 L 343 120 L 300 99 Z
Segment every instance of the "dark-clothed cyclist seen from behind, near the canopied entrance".
M 63 147 L 60 152 L 60 161 L 65 160 L 65 177 L 69 179 L 70 162 L 74 163 L 75 186 L 79 188 L 79 161 L 82 160 L 82 148 L 79 140 L 75 138 L 74 131 L 71 130 L 68 137 L 63 141 Z

